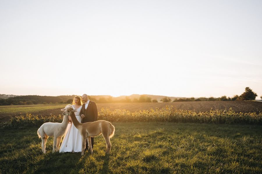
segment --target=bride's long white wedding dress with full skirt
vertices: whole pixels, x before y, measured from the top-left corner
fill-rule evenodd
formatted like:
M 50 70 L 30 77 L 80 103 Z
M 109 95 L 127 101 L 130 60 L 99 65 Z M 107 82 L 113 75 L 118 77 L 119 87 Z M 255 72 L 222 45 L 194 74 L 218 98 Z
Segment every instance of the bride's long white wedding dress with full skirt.
M 80 106 L 75 112 L 75 117 L 80 123 L 82 121 L 82 117 L 79 115 L 81 108 L 82 106 Z M 82 136 L 74 126 L 73 122 L 67 125 L 59 152 L 82 152 Z

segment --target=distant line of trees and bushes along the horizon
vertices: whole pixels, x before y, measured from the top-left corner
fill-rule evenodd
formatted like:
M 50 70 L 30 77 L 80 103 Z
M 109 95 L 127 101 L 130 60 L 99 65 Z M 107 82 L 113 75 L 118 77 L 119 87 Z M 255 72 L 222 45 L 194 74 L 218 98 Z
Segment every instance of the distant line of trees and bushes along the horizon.
M 0 105 L 30 105 L 30 104 L 70 104 L 72 103 L 73 98 L 76 95 L 61 95 L 61 96 L 39 96 L 39 95 L 24 95 L 24 96 L 16 96 L 10 97 L 7 99 L 0 99 Z M 245 88 L 245 92 L 240 96 L 234 95 L 232 98 L 221 96 L 218 98 L 214 97 L 200 97 L 195 99 L 191 98 L 179 98 L 171 101 L 169 97 L 164 97 L 160 99 L 161 102 L 191 102 L 191 101 L 235 101 L 235 100 L 254 100 L 257 97 L 257 94 L 252 91 L 249 87 Z M 153 99 L 148 97 L 147 95 L 140 95 L 139 98 L 125 97 L 95 97 L 88 96 L 88 98 L 96 103 L 144 103 L 144 102 L 158 102 L 157 99 Z M 262 96 L 261 96 L 262 99 Z

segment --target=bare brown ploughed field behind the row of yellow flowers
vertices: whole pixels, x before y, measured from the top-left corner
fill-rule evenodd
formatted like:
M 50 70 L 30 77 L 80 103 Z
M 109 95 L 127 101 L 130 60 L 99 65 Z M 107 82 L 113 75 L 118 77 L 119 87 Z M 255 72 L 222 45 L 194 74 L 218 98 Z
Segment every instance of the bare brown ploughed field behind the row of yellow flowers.
M 176 109 L 195 110 L 195 111 L 209 111 L 210 108 L 215 109 L 229 109 L 232 108 L 235 112 L 256 112 L 262 110 L 262 102 L 249 102 L 249 101 L 215 101 L 215 102 L 168 102 L 168 103 L 97 103 L 98 112 L 101 108 L 108 108 L 109 110 L 125 109 L 130 112 L 139 110 L 150 110 L 156 107 L 161 109 L 165 106 L 173 106 Z M 26 107 L 26 106 L 25 106 Z M 23 113 L 24 115 L 26 113 Z M 32 112 L 34 115 L 50 116 L 62 114 L 61 109 L 47 109 L 40 112 Z M 8 121 L 12 116 L 19 116 L 19 113 L 0 114 L 0 122 Z

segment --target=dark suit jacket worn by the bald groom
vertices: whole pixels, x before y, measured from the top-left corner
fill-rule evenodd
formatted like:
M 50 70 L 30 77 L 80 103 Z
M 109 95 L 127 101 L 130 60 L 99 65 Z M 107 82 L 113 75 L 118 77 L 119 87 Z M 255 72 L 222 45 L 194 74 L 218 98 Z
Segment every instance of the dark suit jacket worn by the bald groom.
M 80 115 L 85 115 L 85 117 L 82 119 L 82 123 L 97 121 L 98 111 L 95 102 L 90 100 L 86 109 L 85 106 L 86 104 L 84 103 L 79 113 Z

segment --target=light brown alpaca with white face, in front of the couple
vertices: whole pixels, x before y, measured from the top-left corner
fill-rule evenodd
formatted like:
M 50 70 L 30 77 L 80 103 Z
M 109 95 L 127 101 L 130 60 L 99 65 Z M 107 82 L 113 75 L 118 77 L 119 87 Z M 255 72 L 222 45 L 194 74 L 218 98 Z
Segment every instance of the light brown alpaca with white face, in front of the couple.
M 65 106 L 64 109 L 61 109 L 63 112 L 63 115 L 70 115 L 73 124 L 78 129 L 82 136 L 82 154 L 84 155 L 84 150 L 86 148 L 86 139 L 88 142 L 88 147 L 90 150 L 90 153 L 93 153 L 92 145 L 91 145 L 91 137 L 96 137 L 102 133 L 102 136 L 105 138 L 107 147 L 106 147 L 106 153 L 109 154 L 111 150 L 111 143 L 110 138 L 114 136 L 115 133 L 115 127 L 105 120 L 98 120 L 95 122 L 87 122 L 87 123 L 79 123 L 78 120 L 75 117 L 74 108 L 71 105 Z

